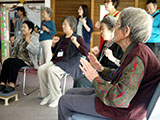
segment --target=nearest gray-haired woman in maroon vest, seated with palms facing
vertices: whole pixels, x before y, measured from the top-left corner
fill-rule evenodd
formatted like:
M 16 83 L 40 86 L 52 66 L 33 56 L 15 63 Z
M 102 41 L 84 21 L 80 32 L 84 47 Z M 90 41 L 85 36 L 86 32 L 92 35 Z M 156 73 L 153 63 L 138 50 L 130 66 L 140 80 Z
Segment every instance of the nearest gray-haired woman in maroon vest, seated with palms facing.
M 160 63 L 144 44 L 152 31 L 152 18 L 140 8 L 125 8 L 119 17 L 114 41 L 124 54 L 118 69 L 103 67 L 93 54 L 81 59 L 84 75 L 94 88 L 71 89 L 59 101 L 59 120 L 74 113 L 104 117 L 106 120 L 142 120 L 160 82 Z M 110 81 L 99 77 L 102 72 Z

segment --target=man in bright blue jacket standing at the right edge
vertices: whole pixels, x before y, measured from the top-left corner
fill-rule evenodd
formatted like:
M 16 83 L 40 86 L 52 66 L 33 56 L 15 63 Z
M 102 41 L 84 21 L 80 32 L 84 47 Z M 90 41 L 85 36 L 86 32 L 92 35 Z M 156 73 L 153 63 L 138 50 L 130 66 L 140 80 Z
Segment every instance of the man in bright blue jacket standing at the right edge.
M 160 50 L 160 12 L 157 10 L 156 0 L 147 0 L 146 8 L 148 13 L 153 17 L 152 35 L 146 45 L 152 49 L 157 58 Z

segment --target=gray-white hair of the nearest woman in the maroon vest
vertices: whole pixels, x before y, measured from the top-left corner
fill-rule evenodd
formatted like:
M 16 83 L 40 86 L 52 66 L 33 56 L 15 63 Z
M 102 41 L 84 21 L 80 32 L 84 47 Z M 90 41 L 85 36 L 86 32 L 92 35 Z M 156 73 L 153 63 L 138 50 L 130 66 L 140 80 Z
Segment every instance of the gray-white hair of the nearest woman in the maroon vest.
M 151 36 L 153 18 L 143 9 L 128 7 L 120 13 L 121 29 L 130 27 L 130 40 L 145 43 Z

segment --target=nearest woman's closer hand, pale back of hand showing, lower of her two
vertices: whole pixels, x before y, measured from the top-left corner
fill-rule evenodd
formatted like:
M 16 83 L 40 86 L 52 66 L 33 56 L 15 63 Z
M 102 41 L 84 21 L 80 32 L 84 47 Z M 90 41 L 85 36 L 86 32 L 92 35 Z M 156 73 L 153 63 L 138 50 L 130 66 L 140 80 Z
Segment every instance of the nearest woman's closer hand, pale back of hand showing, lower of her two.
M 89 81 L 92 82 L 96 77 L 99 76 L 97 71 L 90 65 L 87 60 L 81 58 L 80 62 L 82 65 L 79 65 L 79 67 Z

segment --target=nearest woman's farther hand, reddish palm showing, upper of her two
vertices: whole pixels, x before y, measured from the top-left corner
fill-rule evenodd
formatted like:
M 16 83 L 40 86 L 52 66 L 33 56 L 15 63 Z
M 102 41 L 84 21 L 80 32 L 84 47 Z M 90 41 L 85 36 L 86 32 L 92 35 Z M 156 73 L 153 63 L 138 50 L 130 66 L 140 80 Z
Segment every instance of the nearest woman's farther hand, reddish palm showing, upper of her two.
M 90 63 L 94 67 L 94 69 L 96 69 L 98 72 L 103 71 L 104 69 L 103 66 L 99 63 L 97 58 L 92 53 L 88 53 L 88 58 L 89 58 Z

